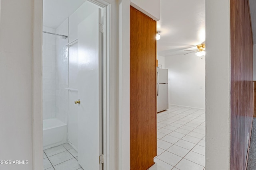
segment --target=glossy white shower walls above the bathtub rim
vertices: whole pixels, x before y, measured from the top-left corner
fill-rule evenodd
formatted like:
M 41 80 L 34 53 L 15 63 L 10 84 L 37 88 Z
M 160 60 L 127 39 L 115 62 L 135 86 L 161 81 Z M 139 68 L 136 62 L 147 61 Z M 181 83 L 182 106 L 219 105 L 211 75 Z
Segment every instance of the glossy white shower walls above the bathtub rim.
M 43 31 L 68 35 L 68 19 L 56 29 Z M 57 117 L 68 123 L 68 39 L 43 33 L 43 119 Z

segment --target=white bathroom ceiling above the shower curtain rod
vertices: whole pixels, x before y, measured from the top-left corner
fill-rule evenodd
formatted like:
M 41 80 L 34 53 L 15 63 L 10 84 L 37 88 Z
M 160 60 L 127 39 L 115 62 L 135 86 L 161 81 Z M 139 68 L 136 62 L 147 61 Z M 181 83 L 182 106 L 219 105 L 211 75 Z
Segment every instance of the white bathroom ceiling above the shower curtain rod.
M 43 0 L 43 25 L 56 28 L 86 0 Z

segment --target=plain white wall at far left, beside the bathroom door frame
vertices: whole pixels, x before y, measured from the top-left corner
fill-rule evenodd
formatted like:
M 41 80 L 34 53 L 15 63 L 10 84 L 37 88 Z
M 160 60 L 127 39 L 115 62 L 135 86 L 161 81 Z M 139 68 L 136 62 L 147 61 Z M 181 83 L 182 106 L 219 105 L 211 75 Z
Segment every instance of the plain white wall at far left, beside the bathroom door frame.
M 33 1 L 0 2 L 0 160 L 28 160 L 0 169 L 32 170 Z

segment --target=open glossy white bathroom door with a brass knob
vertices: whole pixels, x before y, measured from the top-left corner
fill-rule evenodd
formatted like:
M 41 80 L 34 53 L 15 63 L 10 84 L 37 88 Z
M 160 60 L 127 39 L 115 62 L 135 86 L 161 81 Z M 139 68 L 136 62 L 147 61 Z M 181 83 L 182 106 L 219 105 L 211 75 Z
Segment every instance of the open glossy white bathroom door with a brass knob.
M 78 162 L 84 170 L 102 170 L 102 96 L 100 9 L 78 25 Z

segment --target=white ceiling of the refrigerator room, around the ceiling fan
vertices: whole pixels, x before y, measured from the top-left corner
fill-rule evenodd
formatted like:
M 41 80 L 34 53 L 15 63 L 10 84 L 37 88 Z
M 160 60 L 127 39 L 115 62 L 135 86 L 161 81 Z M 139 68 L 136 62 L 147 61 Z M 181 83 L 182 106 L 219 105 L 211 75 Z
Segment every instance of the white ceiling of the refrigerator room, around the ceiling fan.
M 160 0 L 158 55 L 180 55 L 205 42 L 205 0 Z M 206 46 L 207 48 L 207 46 Z

